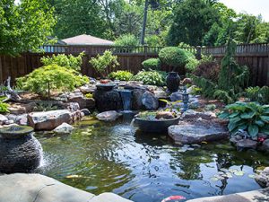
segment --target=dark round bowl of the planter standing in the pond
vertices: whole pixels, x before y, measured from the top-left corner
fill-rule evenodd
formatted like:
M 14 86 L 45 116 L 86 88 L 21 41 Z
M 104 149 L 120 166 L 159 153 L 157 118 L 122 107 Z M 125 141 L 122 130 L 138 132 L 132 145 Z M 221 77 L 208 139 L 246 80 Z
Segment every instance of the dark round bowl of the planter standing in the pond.
M 145 120 L 134 118 L 134 124 L 145 133 L 167 133 L 168 127 L 177 125 L 180 117 L 175 119 Z

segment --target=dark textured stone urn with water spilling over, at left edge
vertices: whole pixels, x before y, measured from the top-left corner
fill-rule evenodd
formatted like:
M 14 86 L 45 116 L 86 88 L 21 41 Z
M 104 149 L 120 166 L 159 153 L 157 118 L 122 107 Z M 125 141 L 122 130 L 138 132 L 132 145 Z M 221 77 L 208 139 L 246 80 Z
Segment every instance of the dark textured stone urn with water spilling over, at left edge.
M 0 129 L 0 172 L 30 172 L 39 167 L 42 147 L 27 126 Z

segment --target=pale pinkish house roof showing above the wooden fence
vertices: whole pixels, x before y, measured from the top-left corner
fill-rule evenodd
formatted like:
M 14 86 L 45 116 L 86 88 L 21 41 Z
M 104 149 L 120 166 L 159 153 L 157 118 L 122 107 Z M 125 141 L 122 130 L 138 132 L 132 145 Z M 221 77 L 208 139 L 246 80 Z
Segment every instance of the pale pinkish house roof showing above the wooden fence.
M 91 35 L 82 34 L 75 37 L 67 38 L 64 41 L 67 45 L 112 45 L 114 42 L 111 40 L 103 40 Z

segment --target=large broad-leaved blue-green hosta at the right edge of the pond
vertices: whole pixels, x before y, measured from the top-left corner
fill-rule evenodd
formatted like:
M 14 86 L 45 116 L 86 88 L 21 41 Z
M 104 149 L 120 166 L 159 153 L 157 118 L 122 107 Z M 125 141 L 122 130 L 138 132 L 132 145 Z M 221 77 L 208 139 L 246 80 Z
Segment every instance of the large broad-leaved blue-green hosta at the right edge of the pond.
M 242 129 L 251 137 L 256 137 L 259 132 L 269 136 L 269 105 L 238 101 L 227 105 L 219 118 L 229 119 L 228 128 L 232 134 Z

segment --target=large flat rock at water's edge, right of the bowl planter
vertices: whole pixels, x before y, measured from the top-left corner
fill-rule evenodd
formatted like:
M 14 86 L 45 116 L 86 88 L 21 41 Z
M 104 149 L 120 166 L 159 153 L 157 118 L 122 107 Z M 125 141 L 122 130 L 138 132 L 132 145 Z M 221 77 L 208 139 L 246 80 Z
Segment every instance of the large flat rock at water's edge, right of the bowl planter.
M 169 127 L 169 136 L 178 144 L 195 144 L 227 138 L 229 132 L 217 124 L 185 123 Z

